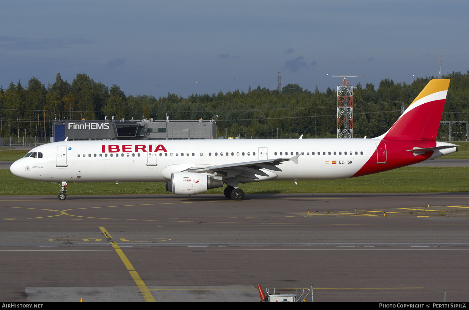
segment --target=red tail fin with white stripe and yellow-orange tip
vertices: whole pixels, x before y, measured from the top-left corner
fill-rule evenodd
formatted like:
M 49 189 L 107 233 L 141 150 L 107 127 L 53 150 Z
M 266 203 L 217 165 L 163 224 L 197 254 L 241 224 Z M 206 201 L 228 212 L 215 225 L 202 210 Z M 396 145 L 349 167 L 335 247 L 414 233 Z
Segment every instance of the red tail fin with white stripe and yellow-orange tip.
M 382 138 L 425 140 L 437 138 L 450 80 L 431 80 Z

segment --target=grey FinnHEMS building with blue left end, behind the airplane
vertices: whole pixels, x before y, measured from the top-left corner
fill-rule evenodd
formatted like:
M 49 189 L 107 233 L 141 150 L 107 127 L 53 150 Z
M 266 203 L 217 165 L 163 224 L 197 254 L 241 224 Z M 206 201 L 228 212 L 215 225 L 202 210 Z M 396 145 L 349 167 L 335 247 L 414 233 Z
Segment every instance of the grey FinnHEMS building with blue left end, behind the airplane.
M 68 140 L 182 140 L 216 139 L 216 121 L 106 119 L 55 121 L 54 142 Z

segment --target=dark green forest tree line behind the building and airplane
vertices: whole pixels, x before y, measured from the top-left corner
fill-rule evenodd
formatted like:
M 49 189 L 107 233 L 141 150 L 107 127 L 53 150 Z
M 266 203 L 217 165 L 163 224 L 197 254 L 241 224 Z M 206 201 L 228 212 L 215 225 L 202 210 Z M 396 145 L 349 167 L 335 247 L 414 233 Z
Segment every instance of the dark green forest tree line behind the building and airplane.
M 425 85 L 425 76 L 412 83 L 390 79 L 354 89 L 354 138 L 376 137 L 385 133 Z M 442 120 L 469 121 L 469 70 L 448 73 L 451 79 Z M 167 96 L 126 96 L 115 84 L 110 88 L 86 74 L 77 74 L 69 83 L 60 73 L 47 87 L 32 77 L 27 85 L 10 82 L 0 87 L 0 135 L 48 137 L 54 120 L 103 120 L 107 116 L 134 120 L 153 118 L 173 120 L 216 119 L 219 135 L 273 138 L 334 138 L 337 136 L 337 91 L 303 89 L 287 84 L 282 91 L 257 86 L 247 92 L 234 90 L 218 94 L 192 94 L 187 98 Z M 454 125 L 453 131 L 464 130 Z M 460 129 L 458 129 L 460 128 Z M 447 139 L 448 128 L 440 126 L 439 139 Z

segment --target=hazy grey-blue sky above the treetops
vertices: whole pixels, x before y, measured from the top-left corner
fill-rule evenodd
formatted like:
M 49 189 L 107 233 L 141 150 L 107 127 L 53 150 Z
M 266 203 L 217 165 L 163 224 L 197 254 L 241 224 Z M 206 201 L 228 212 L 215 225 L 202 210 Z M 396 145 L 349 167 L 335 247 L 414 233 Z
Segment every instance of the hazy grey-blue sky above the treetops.
M 0 84 L 57 72 L 127 95 L 352 84 L 469 69 L 469 1 L 10 1 L 0 5 Z

